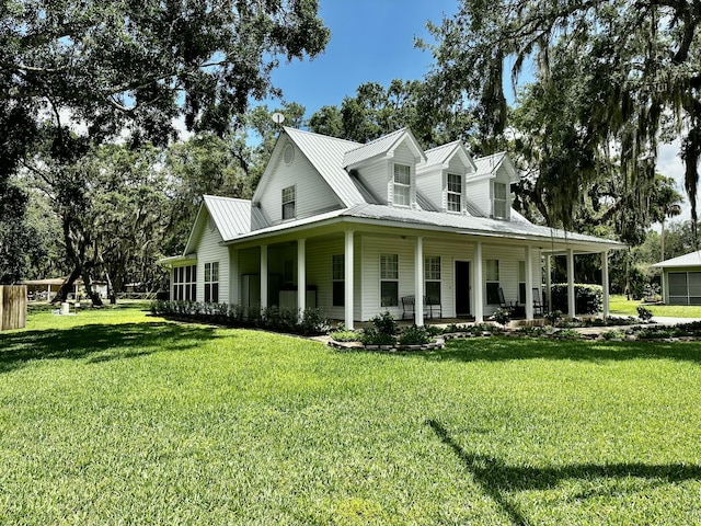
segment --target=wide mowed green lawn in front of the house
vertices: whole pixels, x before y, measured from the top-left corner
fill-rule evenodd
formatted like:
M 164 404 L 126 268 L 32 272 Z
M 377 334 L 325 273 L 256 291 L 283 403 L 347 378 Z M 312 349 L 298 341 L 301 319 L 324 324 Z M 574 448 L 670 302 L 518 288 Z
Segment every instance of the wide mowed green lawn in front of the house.
M 0 334 L 0 524 L 701 524 L 701 345 Z

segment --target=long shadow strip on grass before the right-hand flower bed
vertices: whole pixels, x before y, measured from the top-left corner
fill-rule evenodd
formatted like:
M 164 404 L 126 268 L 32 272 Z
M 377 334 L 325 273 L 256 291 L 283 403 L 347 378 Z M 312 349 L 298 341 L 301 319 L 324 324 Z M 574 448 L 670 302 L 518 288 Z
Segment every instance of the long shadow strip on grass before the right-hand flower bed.
M 445 348 L 430 353 L 402 353 L 429 361 L 507 362 L 515 359 L 568 359 L 608 362 L 628 359 L 675 359 L 701 364 L 701 342 L 607 342 L 568 341 L 547 338 L 499 338 L 450 340 Z

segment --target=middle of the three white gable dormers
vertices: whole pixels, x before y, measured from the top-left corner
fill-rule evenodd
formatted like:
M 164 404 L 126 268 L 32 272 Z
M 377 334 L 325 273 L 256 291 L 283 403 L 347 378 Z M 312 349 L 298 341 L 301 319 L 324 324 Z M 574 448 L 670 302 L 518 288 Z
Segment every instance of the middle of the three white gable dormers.
M 460 140 L 426 151 L 426 162 L 417 168 L 416 185 L 435 209 L 467 213 L 467 178 L 476 167 Z

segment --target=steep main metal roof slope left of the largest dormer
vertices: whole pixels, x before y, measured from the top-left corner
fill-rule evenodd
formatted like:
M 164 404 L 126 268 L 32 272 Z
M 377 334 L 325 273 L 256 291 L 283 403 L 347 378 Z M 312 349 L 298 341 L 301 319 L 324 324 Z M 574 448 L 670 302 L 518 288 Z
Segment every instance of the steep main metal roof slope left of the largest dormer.
M 345 153 L 360 146 L 359 142 L 295 128 L 285 132 L 346 206 L 365 203 L 343 163 Z

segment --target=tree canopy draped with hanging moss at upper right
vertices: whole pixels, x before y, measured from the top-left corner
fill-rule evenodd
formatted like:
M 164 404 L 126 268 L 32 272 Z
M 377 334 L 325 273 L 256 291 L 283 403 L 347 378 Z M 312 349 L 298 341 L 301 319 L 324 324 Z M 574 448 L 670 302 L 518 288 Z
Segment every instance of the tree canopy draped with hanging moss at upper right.
M 686 190 L 696 217 L 701 156 L 701 3 L 677 0 L 461 0 L 432 31 L 428 76 L 438 108 L 475 115 L 482 141 L 513 125 L 504 77 L 524 94 L 529 161 L 554 224 L 572 226 L 579 195 L 618 159 L 631 214 L 648 220 L 659 140 L 682 136 Z

